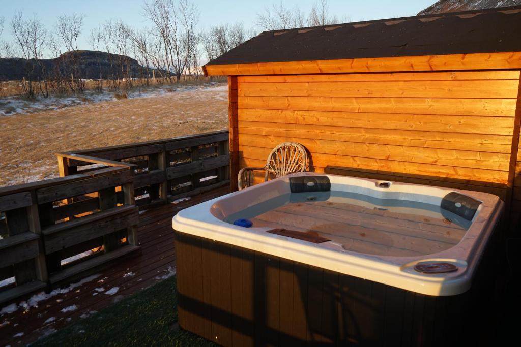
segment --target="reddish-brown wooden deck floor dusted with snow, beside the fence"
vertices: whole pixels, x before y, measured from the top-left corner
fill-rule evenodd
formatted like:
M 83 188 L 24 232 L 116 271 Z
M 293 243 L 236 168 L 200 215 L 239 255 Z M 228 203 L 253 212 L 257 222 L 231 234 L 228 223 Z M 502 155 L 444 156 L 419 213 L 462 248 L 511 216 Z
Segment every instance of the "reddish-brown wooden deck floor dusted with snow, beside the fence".
M 28 309 L 24 309 L 23 302 L 18 300 L 15 312 L 0 315 L 0 345 L 28 344 L 174 275 L 176 253 L 171 229 L 172 216 L 184 208 L 227 192 L 229 188 L 225 186 L 190 200 L 177 204 L 168 203 L 142 212 L 138 229 L 142 250 L 140 255 L 110 263 L 109 267 L 86 276 L 88 281 L 83 279 L 83 284 L 75 286 L 77 280 L 72 286 L 63 287 L 61 293 L 41 300 L 35 306 L 31 306 L 31 299 L 36 298 L 33 294 L 25 298 L 30 305 Z M 101 288 L 104 290 L 96 290 Z M 114 288 L 119 288 L 116 293 L 106 294 L 111 289 L 115 291 Z M 7 304 L 2 305 L 6 306 Z M 19 336 L 22 332 L 23 336 Z

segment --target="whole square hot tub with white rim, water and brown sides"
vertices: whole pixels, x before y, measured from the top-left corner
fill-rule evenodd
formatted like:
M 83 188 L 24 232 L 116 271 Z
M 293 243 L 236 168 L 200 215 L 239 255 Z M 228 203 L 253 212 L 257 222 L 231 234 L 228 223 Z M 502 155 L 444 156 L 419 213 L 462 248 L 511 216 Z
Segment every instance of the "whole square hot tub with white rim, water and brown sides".
M 172 221 L 180 325 L 222 345 L 461 345 L 489 307 L 502 209 L 313 173 L 195 205 Z

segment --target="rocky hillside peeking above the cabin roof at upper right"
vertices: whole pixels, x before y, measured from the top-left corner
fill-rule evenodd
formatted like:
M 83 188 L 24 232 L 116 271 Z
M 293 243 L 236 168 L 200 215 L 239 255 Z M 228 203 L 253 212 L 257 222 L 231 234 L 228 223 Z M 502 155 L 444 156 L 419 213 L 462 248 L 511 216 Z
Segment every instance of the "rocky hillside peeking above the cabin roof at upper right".
M 521 5 L 521 0 L 440 0 L 419 11 L 418 16 L 516 5 Z

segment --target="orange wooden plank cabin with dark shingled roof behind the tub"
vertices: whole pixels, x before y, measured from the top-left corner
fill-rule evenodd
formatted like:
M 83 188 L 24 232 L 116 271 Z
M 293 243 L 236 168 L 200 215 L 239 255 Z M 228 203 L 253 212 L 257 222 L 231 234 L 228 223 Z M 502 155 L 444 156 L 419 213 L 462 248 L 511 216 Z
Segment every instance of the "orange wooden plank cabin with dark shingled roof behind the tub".
M 204 66 L 229 76 L 232 188 L 292 141 L 310 171 L 491 192 L 517 221 L 520 32 L 517 6 L 251 38 Z

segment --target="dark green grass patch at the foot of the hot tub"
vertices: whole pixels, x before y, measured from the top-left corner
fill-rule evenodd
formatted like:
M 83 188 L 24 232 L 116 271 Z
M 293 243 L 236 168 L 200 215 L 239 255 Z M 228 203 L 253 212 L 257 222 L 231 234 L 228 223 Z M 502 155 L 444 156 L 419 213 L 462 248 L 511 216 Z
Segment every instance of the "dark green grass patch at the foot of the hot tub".
M 215 346 L 179 328 L 176 278 L 171 277 L 32 346 Z

